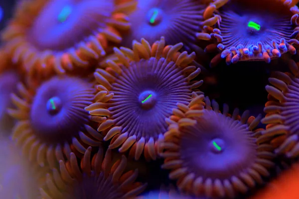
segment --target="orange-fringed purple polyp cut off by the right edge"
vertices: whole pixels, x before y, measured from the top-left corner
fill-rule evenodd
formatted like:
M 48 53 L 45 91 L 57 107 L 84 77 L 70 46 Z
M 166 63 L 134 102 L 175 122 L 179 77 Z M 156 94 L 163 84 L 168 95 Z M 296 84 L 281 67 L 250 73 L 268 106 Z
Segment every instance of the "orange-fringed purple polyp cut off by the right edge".
M 269 101 L 262 122 L 267 128 L 262 138 L 263 141 L 271 140 L 278 154 L 298 157 L 299 67 L 294 60 L 291 60 L 290 69 L 292 73 L 276 72 L 269 78 L 273 86 L 266 86 Z

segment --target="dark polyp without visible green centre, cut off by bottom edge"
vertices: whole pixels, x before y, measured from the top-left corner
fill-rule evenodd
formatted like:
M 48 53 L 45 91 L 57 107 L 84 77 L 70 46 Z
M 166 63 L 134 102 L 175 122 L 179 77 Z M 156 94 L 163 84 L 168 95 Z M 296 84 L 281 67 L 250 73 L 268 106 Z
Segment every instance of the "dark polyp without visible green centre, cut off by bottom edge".
M 142 193 L 147 184 L 135 182 L 138 170 L 124 173 L 127 159 L 122 156 L 113 164 L 111 150 L 91 156 L 89 147 L 81 166 L 74 153 L 69 162 L 59 161 L 60 172 L 53 169 L 47 175 L 46 186 L 40 189 L 43 199 L 128 199 Z M 91 160 L 92 159 L 92 160 Z

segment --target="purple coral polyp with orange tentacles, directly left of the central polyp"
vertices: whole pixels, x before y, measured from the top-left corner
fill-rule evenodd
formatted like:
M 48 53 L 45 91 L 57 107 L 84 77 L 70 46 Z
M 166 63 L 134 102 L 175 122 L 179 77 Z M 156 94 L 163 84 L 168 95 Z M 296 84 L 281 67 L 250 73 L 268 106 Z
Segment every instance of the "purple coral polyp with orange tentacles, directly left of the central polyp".
M 94 83 L 76 76 L 54 76 L 42 83 L 17 86 L 11 99 L 17 119 L 12 137 L 30 161 L 55 167 L 69 159 L 71 151 L 84 154 L 88 146 L 99 146 L 103 136 L 93 128 L 84 108 L 94 99 Z

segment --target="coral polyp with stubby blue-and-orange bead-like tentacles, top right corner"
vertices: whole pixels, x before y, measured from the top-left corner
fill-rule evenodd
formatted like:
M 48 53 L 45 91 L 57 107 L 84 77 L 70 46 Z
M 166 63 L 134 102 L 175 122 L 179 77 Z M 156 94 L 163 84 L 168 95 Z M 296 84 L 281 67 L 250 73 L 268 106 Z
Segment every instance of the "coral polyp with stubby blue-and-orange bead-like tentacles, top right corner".
M 299 9 L 295 0 L 215 0 L 204 11 L 203 31 L 197 38 L 220 51 L 211 61 L 226 63 L 265 60 L 296 54 Z

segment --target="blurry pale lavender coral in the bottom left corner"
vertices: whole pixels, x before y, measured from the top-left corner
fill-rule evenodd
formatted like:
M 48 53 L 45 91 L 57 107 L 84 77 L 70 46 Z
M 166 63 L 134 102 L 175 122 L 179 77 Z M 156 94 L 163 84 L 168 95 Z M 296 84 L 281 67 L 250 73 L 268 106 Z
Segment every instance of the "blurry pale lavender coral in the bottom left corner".
M 8 138 L 0 140 L 0 198 L 37 199 L 45 169 L 30 164 Z

